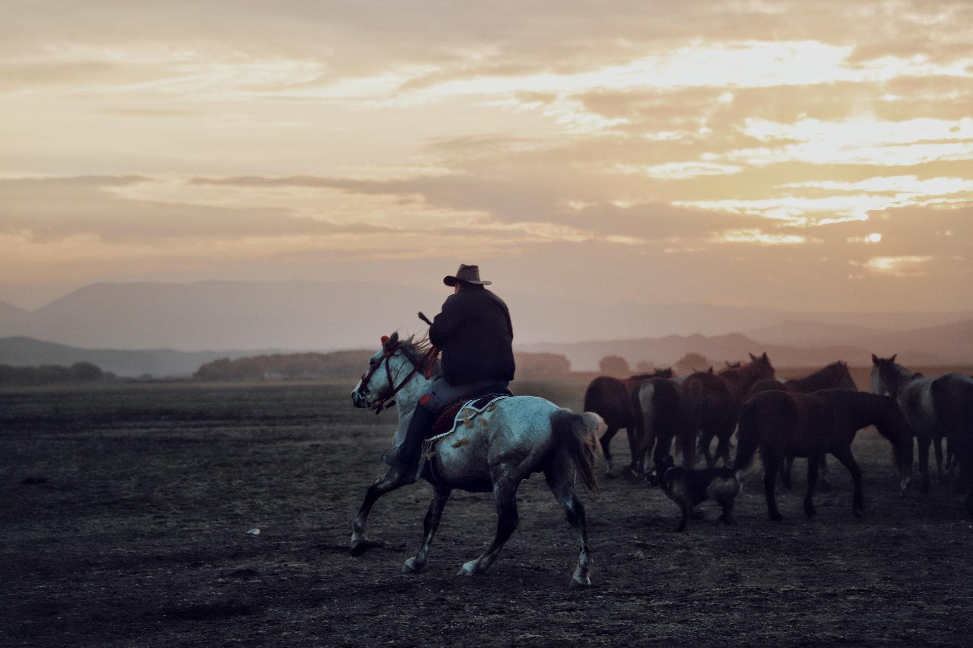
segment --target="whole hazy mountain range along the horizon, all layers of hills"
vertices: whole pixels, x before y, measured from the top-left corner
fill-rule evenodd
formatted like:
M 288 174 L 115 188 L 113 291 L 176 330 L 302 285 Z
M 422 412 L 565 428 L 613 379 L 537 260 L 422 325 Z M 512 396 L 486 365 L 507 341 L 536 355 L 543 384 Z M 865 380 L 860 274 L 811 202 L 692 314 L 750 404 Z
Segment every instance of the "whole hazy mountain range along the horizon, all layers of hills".
M 866 364 L 872 352 L 906 353 L 925 365 L 973 362 L 969 310 L 803 312 L 637 300 L 594 305 L 571 301 L 569 291 L 497 292 L 510 306 L 518 348 L 563 353 L 576 371 L 595 370 L 608 354 L 632 364 L 670 364 L 690 351 L 733 360 L 767 350 L 777 365 L 802 367 L 839 358 Z M 416 311 L 431 317 L 448 295 L 444 286 L 424 290 L 351 280 L 97 283 L 36 310 L 0 302 L 0 338 L 76 349 L 42 352 L 21 340 L 12 345 L 16 353 L 0 355 L 0 363 L 77 358 L 120 375 L 137 369 L 165 376 L 192 373 L 215 357 L 267 349 L 372 348 L 393 330 L 423 331 Z M 116 350 L 97 351 L 99 363 L 82 357 L 90 349 Z M 111 355 L 126 350 L 148 355 L 137 362 Z

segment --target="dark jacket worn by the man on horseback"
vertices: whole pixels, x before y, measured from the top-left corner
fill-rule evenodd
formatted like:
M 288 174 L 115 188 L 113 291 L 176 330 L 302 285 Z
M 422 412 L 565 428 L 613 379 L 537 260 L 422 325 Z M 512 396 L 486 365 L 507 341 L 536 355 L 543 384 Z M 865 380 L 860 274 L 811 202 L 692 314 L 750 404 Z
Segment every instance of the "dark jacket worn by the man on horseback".
M 443 378 L 450 384 L 514 379 L 510 312 L 486 288 L 450 295 L 433 318 L 429 341 L 443 352 Z

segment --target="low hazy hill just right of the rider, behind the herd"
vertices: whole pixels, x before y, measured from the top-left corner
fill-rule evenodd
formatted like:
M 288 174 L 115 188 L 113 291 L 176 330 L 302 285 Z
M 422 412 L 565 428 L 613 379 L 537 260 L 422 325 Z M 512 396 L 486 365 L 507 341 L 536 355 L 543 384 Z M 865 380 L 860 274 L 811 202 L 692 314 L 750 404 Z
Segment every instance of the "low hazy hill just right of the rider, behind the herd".
M 656 367 L 667 367 L 691 352 L 700 353 L 717 364 L 723 360 L 748 361 L 747 353 L 759 354 L 763 351 L 767 351 L 775 367 L 816 367 L 835 360 L 846 360 L 852 365 L 865 365 L 871 362 L 871 351 L 867 350 L 867 347 L 847 344 L 806 347 L 766 344 L 739 334 L 714 337 L 666 336 L 569 344 L 547 342 L 528 344 L 522 348 L 526 351 L 561 353 L 567 356 L 575 371 L 595 371 L 598 361 L 606 355 L 620 355 L 628 360 L 631 366 L 635 366 L 640 361 L 649 361 Z M 945 362 L 942 358 L 928 353 L 910 351 L 903 357 L 907 357 L 910 363 L 916 365 L 939 365 Z

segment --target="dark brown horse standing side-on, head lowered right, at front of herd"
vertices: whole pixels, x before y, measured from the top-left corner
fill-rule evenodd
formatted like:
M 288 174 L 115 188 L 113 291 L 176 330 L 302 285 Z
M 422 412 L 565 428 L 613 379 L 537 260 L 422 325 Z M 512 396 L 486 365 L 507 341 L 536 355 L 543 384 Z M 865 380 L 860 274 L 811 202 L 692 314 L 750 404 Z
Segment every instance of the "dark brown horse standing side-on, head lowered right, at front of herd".
M 764 462 L 764 493 L 767 515 L 775 522 L 783 520 L 777 511 L 774 483 L 787 454 L 808 457 L 808 493 L 804 512 L 814 515 L 812 495 L 817 482 L 818 457 L 834 454 L 851 473 L 854 492 L 851 510 L 860 516 L 864 509 L 861 492 L 861 468 L 851 454 L 855 433 L 875 425 L 892 443 L 900 489 L 905 494 L 912 473 L 912 430 L 895 399 L 851 389 L 824 389 L 812 394 L 790 391 L 765 391 L 743 406 L 739 415 L 739 448 L 736 470 L 743 470 L 760 449 Z

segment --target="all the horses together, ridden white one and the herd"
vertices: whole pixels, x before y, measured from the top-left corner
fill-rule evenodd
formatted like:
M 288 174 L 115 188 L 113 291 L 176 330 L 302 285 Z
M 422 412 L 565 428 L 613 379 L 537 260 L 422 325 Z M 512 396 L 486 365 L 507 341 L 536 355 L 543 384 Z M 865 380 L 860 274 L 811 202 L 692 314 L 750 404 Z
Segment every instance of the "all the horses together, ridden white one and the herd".
M 872 356 L 870 390 L 858 391 L 843 362 L 830 364 L 806 378 L 778 380 L 767 353 L 750 354 L 746 364 L 726 369 L 673 377 L 671 370 L 631 378 L 598 377 L 585 394 L 584 414 L 542 398 L 513 396 L 497 401 L 478 422 L 467 419 L 439 435 L 425 455 L 421 477 L 433 486 L 433 498 L 424 522 L 418 552 L 406 561 L 403 571 L 414 573 L 428 561 L 433 536 L 454 488 L 492 492 L 497 509 L 493 541 L 479 558 L 466 562 L 460 575 L 481 574 L 497 558 L 517 528 L 517 489 L 531 474 L 543 473 L 552 493 L 575 532 L 578 563 L 572 587 L 591 583 L 591 548 L 585 507 L 575 493 L 575 480 L 597 492 L 595 453 L 597 433 L 603 430 L 600 449 L 607 475 L 618 469 L 609 444 L 626 429 L 631 450 L 627 470 L 650 484 L 662 482 L 667 494 L 697 485 L 698 493 L 682 492 L 685 526 L 695 502 L 707 497 L 723 506 L 723 522 L 730 517 L 732 498 L 739 491 L 734 477 L 751 464 L 759 450 L 764 466 L 764 491 L 768 518 L 780 521 L 775 486 L 777 474 L 790 486 L 795 457 L 808 459 L 808 490 L 805 514 L 814 515 L 812 495 L 819 478 L 827 477 L 826 454 L 832 454 L 848 470 L 853 482 L 852 512 L 863 510 L 861 469 L 851 452 L 858 430 L 874 425 L 892 447 L 905 495 L 913 468 L 913 440 L 918 441 L 921 490 L 930 486 L 928 450 L 935 444 L 940 483 L 954 477 L 956 492 L 965 492 L 966 509 L 973 517 L 973 378 L 947 374 L 925 378 L 895 362 L 896 356 Z M 382 370 L 383 367 L 383 370 Z M 434 355 L 426 342 L 393 334 L 370 359 L 370 369 L 352 392 L 355 407 L 380 412 L 395 397 L 399 424 L 395 442 L 400 443 L 418 397 L 439 375 Z M 474 413 L 480 414 L 480 413 Z M 457 421 L 460 418 L 457 416 Z M 737 455 L 731 460 L 732 438 L 737 435 Z M 948 443 L 947 470 L 943 471 L 942 440 Z M 716 449 L 710 452 L 713 440 Z M 672 454 L 681 453 L 675 467 Z M 653 467 L 646 469 L 652 456 Z M 698 461 L 706 468 L 697 470 Z M 716 464 L 723 462 L 721 468 Z M 673 476 L 678 476 L 677 483 Z M 366 525 L 379 497 L 412 480 L 387 471 L 368 488 L 352 522 L 351 553 L 358 556 L 370 543 Z M 717 485 L 719 487 L 716 487 Z M 722 488 L 722 490 L 721 490 Z M 724 494 L 720 494 L 720 493 Z M 688 504 L 687 504 L 688 502 Z

